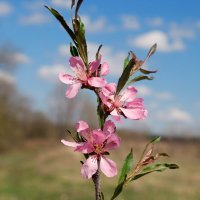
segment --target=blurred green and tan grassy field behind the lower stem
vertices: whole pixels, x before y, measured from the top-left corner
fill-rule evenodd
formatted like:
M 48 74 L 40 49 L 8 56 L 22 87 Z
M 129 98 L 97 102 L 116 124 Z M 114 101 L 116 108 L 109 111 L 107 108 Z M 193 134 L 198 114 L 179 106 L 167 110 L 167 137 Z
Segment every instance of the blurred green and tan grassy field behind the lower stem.
M 135 159 L 146 141 L 128 139 L 111 155 L 119 166 L 131 147 Z M 155 173 L 125 188 L 119 200 L 200 200 L 200 145 L 161 143 L 158 149 L 171 155 L 179 170 Z M 59 141 L 29 142 L 21 149 L 0 155 L 0 200 L 89 200 L 93 185 L 80 177 L 81 155 Z M 105 199 L 116 178 L 102 176 Z

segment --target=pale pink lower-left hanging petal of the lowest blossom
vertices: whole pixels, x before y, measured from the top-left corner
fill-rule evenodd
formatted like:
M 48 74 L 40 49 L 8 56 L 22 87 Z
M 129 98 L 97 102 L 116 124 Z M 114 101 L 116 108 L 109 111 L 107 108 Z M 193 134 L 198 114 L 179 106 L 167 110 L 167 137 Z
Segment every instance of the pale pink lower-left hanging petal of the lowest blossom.
M 84 178 L 90 179 L 98 169 L 97 159 L 95 156 L 90 156 L 81 168 L 81 175 Z

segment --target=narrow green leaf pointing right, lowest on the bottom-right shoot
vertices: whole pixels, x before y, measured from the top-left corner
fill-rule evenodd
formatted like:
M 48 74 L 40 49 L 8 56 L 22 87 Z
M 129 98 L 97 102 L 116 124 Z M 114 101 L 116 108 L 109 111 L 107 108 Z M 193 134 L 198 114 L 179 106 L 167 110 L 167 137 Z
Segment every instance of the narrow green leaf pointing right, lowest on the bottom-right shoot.
M 140 174 L 137 174 L 134 176 L 131 181 L 137 180 L 147 174 L 153 173 L 153 172 L 163 172 L 166 169 L 178 169 L 179 166 L 176 164 L 168 164 L 168 163 L 156 163 L 156 164 L 151 164 L 147 167 L 145 167 Z

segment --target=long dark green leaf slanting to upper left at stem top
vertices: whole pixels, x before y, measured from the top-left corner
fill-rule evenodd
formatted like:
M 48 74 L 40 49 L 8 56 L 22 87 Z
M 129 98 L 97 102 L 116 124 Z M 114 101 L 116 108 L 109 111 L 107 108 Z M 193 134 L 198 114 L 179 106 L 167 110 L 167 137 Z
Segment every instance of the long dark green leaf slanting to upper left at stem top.
M 70 27 L 67 25 L 67 23 L 64 20 L 63 16 L 57 10 L 55 10 L 53 8 L 50 8 L 50 7 L 46 6 L 46 5 L 45 5 L 45 8 L 47 8 L 54 15 L 54 17 L 61 23 L 61 25 L 63 26 L 63 28 L 67 31 L 67 33 L 69 34 L 69 36 L 71 37 L 71 39 L 74 41 L 74 43 L 76 43 L 75 34 L 70 29 Z

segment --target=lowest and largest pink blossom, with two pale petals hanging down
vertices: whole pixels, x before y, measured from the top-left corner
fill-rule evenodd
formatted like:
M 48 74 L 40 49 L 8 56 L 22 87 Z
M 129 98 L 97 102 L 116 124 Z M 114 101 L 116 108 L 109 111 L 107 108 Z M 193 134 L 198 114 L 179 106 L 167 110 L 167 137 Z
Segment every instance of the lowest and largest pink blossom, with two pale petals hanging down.
M 104 124 L 103 130 L 90 130 L 88 124 L 84 121 L 76 123 L 77 132 L 84 138 L 84 142 L 69 142 L 61 140 L 66 145 L 73 147 L 75 151 L 89 154 L 81 168 L 81 174 L 84 178 L 91 178 L 98 169 L 98 160 L 100 161 L 100 170 L 107 176 L 117 175 L 117 167 L 114 161 L 105 157 L 109 150 L 116 149 L 120 145 L 120 138 L 115 133 L 115 125 L 111 120 Z

